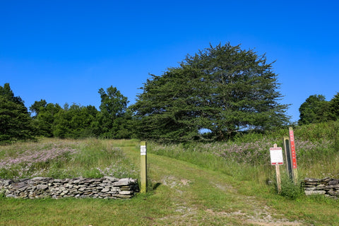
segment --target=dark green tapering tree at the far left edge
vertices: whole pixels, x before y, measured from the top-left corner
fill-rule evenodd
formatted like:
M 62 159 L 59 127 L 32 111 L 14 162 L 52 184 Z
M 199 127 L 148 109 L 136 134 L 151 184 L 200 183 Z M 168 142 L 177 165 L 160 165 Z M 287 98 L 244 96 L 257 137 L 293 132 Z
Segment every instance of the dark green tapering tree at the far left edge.
M 0 86 L 0 143 L 34 138 L 32 119 L 9 83 Z

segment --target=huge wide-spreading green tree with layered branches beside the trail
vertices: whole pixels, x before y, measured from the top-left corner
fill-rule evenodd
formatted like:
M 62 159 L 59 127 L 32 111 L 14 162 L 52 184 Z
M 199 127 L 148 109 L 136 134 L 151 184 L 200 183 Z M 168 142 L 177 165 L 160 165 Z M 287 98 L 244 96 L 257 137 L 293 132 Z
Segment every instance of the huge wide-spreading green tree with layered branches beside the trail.
M 244 129 L 288 123 L 277 75 L 265 55 L 218 44 L 153 76 L 131 108 L 138 136 L 162 141 L 225 140 Z

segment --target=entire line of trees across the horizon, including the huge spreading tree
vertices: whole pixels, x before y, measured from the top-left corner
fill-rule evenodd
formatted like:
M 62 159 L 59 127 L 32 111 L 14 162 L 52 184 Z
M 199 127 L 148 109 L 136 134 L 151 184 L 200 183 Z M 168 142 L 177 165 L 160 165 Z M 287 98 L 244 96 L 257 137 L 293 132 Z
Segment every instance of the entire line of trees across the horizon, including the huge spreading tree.
M 161 76 L 152 75 L 129 107 L 127 97 L 111 85 L 98 90 L 99 109 L 37 100 L 29 112 L 5 83 L 0 86 L 0 143 L 37 136 L 225 141 L 239 132 L 291 124 L 277 80 L 265 55 L 227 43 L 210 45 Z M 338 99 L 338 94 L 330 102 L 310 96 L 299 109 L 299 124 L 338 120 Z

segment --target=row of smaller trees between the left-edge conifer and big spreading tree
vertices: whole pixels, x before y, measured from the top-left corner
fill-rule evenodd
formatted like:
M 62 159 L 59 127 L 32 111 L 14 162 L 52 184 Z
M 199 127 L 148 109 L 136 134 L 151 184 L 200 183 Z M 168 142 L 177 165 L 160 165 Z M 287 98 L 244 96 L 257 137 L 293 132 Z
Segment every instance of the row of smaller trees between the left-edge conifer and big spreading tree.
M 94 106 L 81 106 L 35 101 L 30 107 L 35 115 L 37 135 L 58 138 L 130 138 L 131 111 L 127 109 L 127 97 L 112 86 L 107 91 L 100 88 L 100 111 Z

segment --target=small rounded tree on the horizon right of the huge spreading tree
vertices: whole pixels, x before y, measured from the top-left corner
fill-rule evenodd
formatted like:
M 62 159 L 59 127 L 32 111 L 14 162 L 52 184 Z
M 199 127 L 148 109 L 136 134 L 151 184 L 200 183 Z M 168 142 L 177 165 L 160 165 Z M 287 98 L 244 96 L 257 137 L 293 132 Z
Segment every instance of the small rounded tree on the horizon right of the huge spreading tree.
M 328 120 L 329 103 L 323 95 L 310 95 L 299 107 L 298 123 L 311 124 Z

